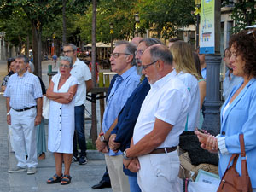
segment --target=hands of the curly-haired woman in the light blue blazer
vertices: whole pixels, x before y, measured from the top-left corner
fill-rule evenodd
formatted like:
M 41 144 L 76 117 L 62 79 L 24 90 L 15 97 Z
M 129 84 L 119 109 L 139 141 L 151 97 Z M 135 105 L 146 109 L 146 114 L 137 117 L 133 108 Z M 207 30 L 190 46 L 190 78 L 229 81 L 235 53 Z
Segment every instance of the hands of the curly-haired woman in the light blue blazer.
M 218 139 L 205 131 L 204 133 L 195 129 L 195 135 L 201 143 L 201 148 L 211 153 L 218 153 Z

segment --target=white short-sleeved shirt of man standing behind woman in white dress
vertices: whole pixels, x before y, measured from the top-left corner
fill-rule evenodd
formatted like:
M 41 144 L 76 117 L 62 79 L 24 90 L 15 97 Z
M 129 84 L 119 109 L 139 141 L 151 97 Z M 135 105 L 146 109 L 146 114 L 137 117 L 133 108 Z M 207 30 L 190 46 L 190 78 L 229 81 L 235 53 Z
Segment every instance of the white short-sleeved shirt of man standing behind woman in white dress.
M 75 106 L 85 104 L 86 100 L 86 84 L 85 81 L 91 79 L 91 73 L 89 67 L 77 58 L 77 61 L 73 64 L 73 68 L 70 72 L 73 77 L 78 80 L 78 90 L 75 98 Z

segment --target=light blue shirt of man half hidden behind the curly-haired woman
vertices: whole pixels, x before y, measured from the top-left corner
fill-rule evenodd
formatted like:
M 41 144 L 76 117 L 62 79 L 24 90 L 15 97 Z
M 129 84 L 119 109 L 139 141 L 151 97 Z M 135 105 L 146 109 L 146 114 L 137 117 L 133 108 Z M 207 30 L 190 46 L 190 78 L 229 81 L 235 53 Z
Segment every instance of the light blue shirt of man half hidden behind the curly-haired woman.
M 230 80 L 230 77 L 231 80 Z M 241 77 L 237 77 L 235 76 L 233 73 L 230 73 L 230 70 L 228 70 L 225 73 L 225 78 L 223 81 L 223 96 L 224 96 L 224 100 L 226 101 L 226 99 L 230 96 L 230 92 L 231 90 L 233 90 L 234 86 L 236 86 L 237 84 L 240 84 L 242 81 Z

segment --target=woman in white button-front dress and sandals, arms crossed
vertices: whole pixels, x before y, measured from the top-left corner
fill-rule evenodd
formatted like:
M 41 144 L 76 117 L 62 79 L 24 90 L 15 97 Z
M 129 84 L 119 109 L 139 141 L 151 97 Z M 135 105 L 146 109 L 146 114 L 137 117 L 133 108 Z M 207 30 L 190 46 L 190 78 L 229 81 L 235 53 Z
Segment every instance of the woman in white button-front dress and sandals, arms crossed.
M 60 73 L 56 74 L 49 83 L 46 96 L 49 103 L 49 137 L 48 149 L 55 155 L 56 173 L 47 183 L 61 182 L 69 184 L 69 174 L 73 154 L 74 133 L 74 96 L 77 91 L 77 79 L 71 76 L 72 59 L 61 58 Z M 62 174 L 62 161 L 65 171 Z

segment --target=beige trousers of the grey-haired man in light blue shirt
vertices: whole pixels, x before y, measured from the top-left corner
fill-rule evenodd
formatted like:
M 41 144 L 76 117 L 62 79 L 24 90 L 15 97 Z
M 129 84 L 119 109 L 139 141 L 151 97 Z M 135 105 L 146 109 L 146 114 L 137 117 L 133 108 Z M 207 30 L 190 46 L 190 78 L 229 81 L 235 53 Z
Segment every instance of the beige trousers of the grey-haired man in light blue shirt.
M 128 177 L 123 172 L 123 155 L 105 154 L 105 160 L 113 192 L 130 192 Z

